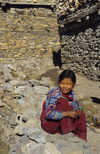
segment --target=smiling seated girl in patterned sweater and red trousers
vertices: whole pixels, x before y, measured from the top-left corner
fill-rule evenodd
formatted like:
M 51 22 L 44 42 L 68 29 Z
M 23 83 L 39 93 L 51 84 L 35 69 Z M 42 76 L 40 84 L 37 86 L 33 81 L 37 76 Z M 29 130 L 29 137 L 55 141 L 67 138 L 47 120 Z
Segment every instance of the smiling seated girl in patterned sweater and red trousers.
M 79 108 L 72 91 L 76 76 L 72 70 L 64 70 L 59 76 L 59 86 L 50 90 L 43 103 L 41 126 L 50 134 L 73 132 L 87 141 L 86 118 Z

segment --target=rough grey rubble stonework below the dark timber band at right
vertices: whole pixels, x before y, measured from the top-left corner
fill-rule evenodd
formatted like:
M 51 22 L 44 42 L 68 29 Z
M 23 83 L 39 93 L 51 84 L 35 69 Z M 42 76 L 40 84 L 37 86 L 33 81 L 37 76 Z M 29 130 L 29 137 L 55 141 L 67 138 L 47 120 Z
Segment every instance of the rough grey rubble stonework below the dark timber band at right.
M 100 26 L 78 28 L 62 35 L 61 60 L 63 68 L 73 69 L 91 80 L 100 80 Z M 74 35 L 73 35 L 73 32 Z M 64 66 L 65 65 L 65 66 Z

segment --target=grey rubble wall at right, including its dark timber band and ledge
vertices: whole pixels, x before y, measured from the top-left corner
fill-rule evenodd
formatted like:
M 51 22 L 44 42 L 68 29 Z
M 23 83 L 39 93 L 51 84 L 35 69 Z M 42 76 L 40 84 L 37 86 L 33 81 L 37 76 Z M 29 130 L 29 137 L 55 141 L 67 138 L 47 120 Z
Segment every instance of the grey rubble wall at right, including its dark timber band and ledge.
M 100 81 L 100 4 L 59 19 L 63 69 Z M 87 14 L 87 16 L 86 16 Z

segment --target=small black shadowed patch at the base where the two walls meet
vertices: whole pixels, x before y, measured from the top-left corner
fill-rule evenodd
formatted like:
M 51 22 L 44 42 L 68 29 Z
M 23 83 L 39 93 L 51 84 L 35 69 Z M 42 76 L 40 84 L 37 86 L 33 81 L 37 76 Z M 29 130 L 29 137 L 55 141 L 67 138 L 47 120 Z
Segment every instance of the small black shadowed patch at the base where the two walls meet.
M 61 66 L 62 66 L 61 50 L 59 50 L 57 53 L 53 52 L 53 63 L 55 66 L 59 66 L 59 68 L 61 68 Z

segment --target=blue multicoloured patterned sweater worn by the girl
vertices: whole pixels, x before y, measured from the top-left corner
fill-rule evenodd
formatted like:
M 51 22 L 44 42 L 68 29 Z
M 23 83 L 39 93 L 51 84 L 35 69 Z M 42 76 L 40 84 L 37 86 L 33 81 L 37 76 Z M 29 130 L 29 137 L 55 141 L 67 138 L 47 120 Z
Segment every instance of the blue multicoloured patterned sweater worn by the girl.
M 46 113 L 46 118 L 47 119 L 62 119 L 63 118 L 63 113 L 62 111 L 56 111 L 56 101 L 59 98 L 67 98 L 69 105 L 72 105 L 73 110 L 81 109 L 79 107 L 78 102 L 76 101 L 76 96 L 73 91 L 70 91 L 64 97 L 65 94 L 62 94 L 61 90 L 59 87 L 55 87 L 52 90 L 49 91 L 46 99 L 46 104 L 45 104 L 45 113 Z

